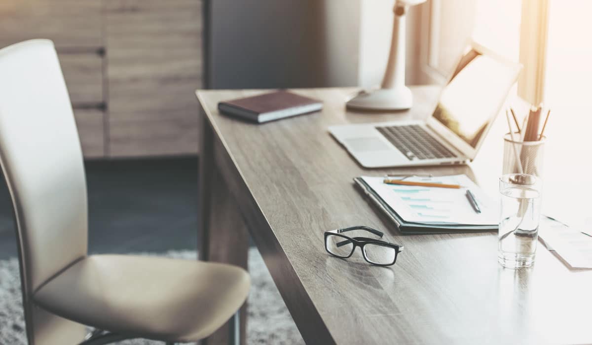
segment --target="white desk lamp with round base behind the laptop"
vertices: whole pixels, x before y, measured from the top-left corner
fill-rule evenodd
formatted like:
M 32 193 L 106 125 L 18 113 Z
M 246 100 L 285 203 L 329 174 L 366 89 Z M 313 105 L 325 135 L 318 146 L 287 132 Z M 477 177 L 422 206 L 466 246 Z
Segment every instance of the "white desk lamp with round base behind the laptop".
M 392 22 L 391 52 L 381 88 L 362 91 L 346 104 L 352 109 L 401 110 L 411 108 L 413 95 L 405 86 L 405 16 L 411 6 L 426 0 L 396 0 Z

